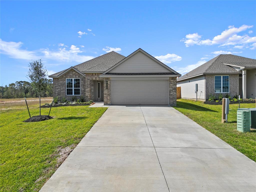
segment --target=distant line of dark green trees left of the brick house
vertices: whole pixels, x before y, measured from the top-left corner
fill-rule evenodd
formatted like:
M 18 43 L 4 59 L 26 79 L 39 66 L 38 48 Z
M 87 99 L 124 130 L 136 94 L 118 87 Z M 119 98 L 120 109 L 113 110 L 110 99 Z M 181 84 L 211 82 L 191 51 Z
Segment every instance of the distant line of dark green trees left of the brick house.
M 41 93 L 41 97 L 52 97 L 52 80 L 47 80 L 46 90 Z M 28 81 L 16 81 L 9 86 L 0 86 L 0 97 L 3 99 L 39 97 Z

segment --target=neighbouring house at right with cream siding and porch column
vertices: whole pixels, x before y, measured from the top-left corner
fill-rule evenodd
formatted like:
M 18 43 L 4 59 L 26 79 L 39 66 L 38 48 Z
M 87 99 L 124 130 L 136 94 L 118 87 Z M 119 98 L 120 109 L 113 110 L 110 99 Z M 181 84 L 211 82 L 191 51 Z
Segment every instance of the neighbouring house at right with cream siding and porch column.
M 177 79 L 181 97 L 196 99 L 195 84 L 198 84 L 197 98 L 209 99 L 213 94 L 238 94 L 241 98 L 256 97 L 256 59 L 236 55 L 219 55 Z

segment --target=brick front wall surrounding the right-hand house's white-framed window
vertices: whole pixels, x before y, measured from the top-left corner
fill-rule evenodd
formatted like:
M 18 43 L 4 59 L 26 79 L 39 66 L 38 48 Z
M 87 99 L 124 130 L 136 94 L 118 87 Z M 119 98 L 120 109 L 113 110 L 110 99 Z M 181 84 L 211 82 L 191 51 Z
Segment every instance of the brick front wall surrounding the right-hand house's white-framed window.
M 228 74 L 227 74 L 228 75 Z M 210 94 L 215 95 L 216 99 L 220 93 L 215 93 L 215 75 L 205 75 L 205 98 L 209 99 Z M 222 93 L 223 96 L 225 93 Z M 239 94 L 239 74 L 229 75 L 229 94 L 233 98 L 235 94 Z

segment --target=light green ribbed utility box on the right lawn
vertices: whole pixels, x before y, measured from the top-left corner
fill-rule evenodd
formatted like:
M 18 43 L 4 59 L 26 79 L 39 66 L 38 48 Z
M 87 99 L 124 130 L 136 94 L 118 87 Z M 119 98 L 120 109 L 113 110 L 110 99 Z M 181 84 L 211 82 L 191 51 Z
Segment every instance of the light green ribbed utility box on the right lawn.
M 251 123 L 250 111 L 238 110 L 237 111 L 237 130 L 241 132 L 250 132 Z

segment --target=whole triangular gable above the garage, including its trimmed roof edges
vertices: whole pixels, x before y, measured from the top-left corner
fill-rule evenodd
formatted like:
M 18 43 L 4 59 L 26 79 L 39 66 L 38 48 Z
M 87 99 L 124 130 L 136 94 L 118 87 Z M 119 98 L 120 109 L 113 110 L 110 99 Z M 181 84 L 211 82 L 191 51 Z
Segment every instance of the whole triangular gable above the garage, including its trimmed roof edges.
M 102 74 L 108 73 L 168 73 L 179 74 L 142 49 L 137 49 Z

